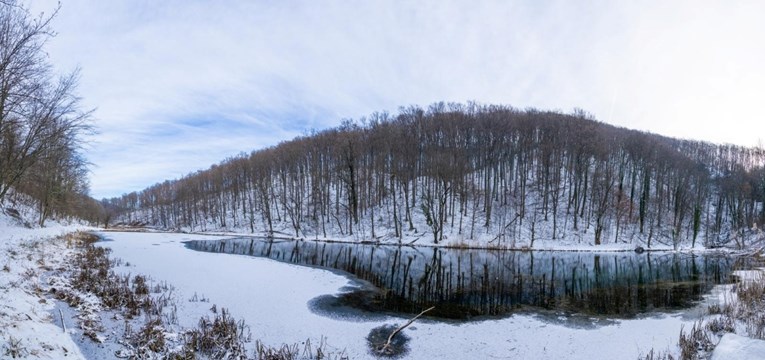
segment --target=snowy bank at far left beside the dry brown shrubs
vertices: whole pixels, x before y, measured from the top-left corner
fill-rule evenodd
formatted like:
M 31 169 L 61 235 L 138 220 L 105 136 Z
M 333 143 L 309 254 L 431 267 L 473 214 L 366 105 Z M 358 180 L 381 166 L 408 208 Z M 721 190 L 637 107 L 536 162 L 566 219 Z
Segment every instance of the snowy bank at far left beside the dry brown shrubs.
M 40 289 L 45 272 L 73 251 L 56 237 L 82 228 L 56 222 L 26 228 L 0 212 L 0 358 L 84 358 Z

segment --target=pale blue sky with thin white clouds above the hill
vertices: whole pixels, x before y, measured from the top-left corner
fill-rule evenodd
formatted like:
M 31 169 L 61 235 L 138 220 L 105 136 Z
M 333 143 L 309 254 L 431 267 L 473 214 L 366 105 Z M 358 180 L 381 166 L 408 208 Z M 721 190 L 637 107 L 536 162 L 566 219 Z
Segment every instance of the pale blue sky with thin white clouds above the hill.
M 30 1 L 34 14 L 58 3 Z M 99 199 L 438 101 L 765 139 L 763 1 L 60 3 L 45 49 L 57 72 L 81 69 Z

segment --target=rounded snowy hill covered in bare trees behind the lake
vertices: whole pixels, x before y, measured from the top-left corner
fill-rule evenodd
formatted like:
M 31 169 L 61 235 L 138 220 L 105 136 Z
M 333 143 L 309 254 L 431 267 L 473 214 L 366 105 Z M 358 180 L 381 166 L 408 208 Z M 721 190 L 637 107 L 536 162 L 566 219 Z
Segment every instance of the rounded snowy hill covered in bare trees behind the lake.
M 439 103 L 346 121 L 104 202 L 116 221 L 190 231 L 740 246 L 765 221 L 764 165 L 763 149 L 581 112 Z

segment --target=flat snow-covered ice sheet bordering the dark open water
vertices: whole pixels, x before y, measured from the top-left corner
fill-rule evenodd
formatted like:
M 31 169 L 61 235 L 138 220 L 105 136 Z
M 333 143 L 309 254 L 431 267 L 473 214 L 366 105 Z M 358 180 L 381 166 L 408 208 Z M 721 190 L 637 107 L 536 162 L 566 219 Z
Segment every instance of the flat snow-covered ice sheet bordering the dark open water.
M 104 232 L 101 243 L 125 264 L 117 270 L 148 274 L 175 287 L 181 300 L 181 325 L 209 315 L 212 304 L 228 308 L 250 325 L 265 344 L 318 344 L 352 359 L 372 358 L 366 337 L 383 324 L 402 324 L 390 316 L 353 318 L 312 312 L 317 296 L 347 291 L 357 284 L 336 272 L 264 258 L 196 252 L 182 241 L 220 237 Z M 205 298 L 207 301 L 191 301 Z M 698 311 L 631 320 L 572 319 L 564 316 L 513 315 L 472 322 L 418 320 L 404 330 L 411 338 L 407 358 L 637 359 L 652 348 L 677 355 L 680 329 L 690 328 Z M 185 322 L 185 323 L 184 323 Z

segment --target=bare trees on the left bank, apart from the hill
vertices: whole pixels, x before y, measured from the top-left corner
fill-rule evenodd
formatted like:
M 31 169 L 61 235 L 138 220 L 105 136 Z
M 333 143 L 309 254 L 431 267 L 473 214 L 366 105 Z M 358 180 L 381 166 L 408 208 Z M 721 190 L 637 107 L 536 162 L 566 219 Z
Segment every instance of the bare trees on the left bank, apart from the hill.
M 75 95 L 78 71 L 55 76 L 43 49 L 56 12 L 34 17 L 14 0 L 0 2 L 0 203 L 31 197 L 41 226 L 55 215 L 102 212 L 87 195 L 81 150 L 91 125 Z

